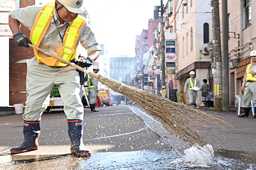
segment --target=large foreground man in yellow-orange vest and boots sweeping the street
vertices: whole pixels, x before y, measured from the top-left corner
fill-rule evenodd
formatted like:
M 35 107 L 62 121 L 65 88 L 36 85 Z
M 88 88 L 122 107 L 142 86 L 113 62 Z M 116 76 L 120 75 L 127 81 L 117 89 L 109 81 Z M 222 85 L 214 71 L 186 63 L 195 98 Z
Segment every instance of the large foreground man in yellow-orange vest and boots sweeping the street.
M 78 13 L 84 13 L 82 0 L 58 0 L 45 6 L 26 6 L 9 13 L 9 26 L 16 45 L 29 47 L 32 43 L 48 53 L 90 67 L 100 56 L 100 45 L 90 25 Z M 31 30 L 30 38 L 21 33 L 20 26 Z M 85 60 L 76 58 L 78 44 L 88 52 Z M 74 67 L 68 66 L 43 52 L 34 50 L 35 57 L 27 62 L 28 83 L 26 108 L 23 114 L 24 140 L 21 146 L 11 149 L 18 154 L 38 149 L 41 132 L 41 108 L 53 86 L 56 85 L 67 116 L 70 151 L 78 157 L 90 155 L 82 142 L 84 108 L 80 98 L 80 77 Z

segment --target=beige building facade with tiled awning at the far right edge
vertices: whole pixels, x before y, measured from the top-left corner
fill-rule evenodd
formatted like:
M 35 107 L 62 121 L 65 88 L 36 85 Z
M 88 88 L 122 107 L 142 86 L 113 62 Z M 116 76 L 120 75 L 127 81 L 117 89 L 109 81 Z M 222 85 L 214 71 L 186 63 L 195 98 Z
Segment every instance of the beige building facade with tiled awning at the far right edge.
M 230 79 L 230 108 L 235 108 L 235 98 L 243 95 L 241 86 L 245 67 L 250 63 L 250 51 L 256 50 L 256 1 L 228 0 L 228 59 Z M 220 29 L 222 26 L 220 3 Z M 225 56 L 223 56 L 225 57 Z

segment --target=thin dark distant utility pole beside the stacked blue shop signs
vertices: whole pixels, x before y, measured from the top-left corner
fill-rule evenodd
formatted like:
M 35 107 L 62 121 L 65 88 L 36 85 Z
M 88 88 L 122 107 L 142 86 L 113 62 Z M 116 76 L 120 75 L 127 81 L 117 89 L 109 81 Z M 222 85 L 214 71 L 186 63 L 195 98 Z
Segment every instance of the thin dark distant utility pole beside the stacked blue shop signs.
M 161 0 L 161 69 L 162 69 L 162 77 L 161 77 L 161 85 L 166 87 L 166 75 L 165 75 L 165 37 L 164 37 L 164 5 L 163 0 Z

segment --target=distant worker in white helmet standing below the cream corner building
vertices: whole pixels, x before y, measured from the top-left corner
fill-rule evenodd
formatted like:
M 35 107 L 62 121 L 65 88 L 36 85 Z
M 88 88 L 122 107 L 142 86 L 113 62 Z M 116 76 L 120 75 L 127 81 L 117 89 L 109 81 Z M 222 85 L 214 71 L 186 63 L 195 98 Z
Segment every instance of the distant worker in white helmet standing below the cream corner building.
M 194 71 L 189 72 L 190 78 L 186 80 L 184 86 L 184 94 L 188 91 L 189 105 L 196 107 L 197 91 L 201 86 L 200 81 L 196 79 L 196 73 Z

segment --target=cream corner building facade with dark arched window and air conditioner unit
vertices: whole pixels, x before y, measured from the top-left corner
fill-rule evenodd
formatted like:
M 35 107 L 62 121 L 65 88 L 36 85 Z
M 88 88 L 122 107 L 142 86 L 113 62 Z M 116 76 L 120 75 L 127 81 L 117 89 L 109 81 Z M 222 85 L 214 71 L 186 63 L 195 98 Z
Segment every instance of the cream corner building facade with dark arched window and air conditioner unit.
M 196 72 L 196 78 L 201 83 L 203 79 L 207 79 L 212 85 L 213 74 L 210 63 L 212 59 L 207 49 L 208 42 L 212 40 L 210 0 L 188 1 L 186 6 L 178 0 L 176 10 L 178 91 L 183 91 L 186 79 L 189 78 L 189 72 L 192 70 Z M 188 94 L 184 96 L 184 101 L 188 103 Z M 198 106 L 202 105 L 201 91 L 198 91 L 196 103 Z

